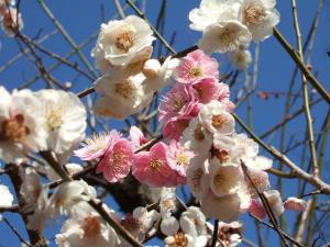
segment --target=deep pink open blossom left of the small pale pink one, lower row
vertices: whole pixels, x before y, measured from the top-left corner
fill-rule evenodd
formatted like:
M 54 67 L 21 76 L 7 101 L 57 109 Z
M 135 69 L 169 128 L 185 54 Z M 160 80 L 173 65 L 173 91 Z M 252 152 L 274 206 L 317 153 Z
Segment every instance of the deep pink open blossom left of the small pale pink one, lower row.
M 140 151 L 134 156 L 133 176 L 151 187 L 174 187 L 184 183 L 184 179 L 167 164 L 167 145 L 160 142 L 150 151 Z

